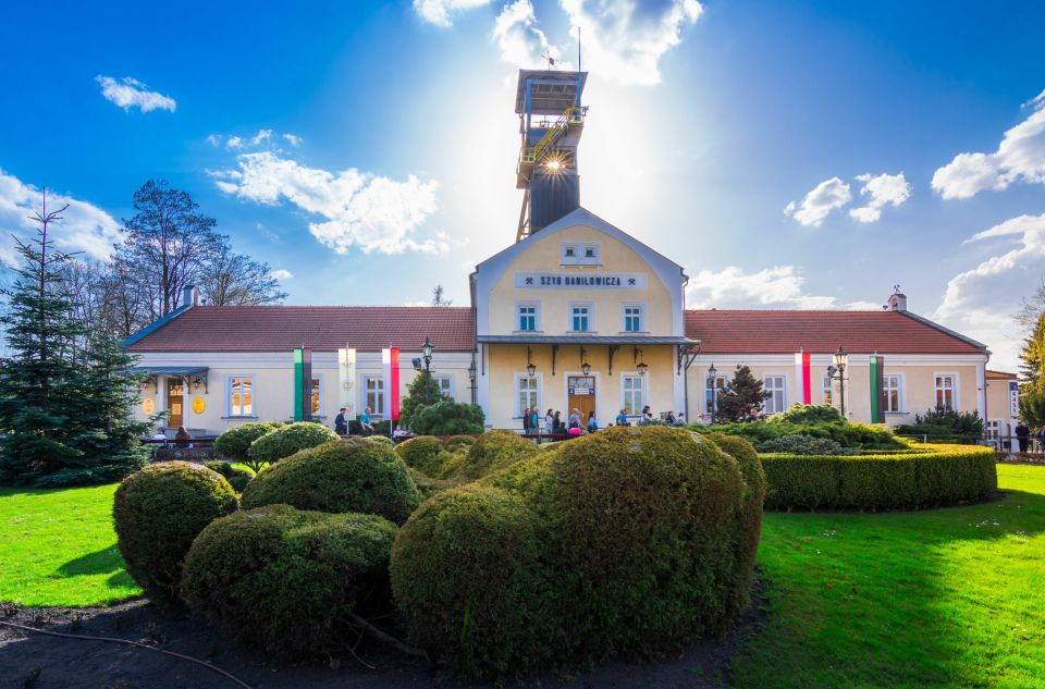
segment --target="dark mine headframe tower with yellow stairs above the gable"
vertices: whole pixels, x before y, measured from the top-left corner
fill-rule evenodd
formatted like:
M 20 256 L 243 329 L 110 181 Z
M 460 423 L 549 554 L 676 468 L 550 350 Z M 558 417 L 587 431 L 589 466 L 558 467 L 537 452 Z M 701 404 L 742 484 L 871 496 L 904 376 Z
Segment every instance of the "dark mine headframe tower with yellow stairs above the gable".
M 519 70 L 516 188 L 524 195 L 516 242 L 580 207 L 577 145 L 588 114 L 581 103 L 587 81 L 587 72 Z

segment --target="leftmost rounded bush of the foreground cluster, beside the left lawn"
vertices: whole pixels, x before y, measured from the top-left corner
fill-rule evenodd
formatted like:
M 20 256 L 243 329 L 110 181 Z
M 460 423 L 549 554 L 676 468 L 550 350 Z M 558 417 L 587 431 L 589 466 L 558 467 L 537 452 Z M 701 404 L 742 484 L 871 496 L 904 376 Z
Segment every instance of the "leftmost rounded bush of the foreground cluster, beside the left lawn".
M 238 506 L 232 485 L 198 464 L 163 462 L 132 473 L 112 504 L 116 545 L 127 573 L 153 601 L 174 602 L 193 539 Z

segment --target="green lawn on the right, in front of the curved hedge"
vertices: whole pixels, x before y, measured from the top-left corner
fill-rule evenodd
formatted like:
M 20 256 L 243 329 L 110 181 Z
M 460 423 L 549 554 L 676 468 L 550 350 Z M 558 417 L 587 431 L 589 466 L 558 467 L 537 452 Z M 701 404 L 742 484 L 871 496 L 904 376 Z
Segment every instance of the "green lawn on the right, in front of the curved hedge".
M 738 687 L 1041 687 L 1045 468 L 1003 501 L 930 512 L 766 514 L 766 626 Z

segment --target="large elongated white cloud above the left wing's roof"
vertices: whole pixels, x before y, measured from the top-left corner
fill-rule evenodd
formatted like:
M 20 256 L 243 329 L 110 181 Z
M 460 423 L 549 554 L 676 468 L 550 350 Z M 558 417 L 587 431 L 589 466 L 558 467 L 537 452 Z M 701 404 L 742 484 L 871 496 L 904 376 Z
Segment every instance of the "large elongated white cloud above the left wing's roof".
M 437 209 L 434 181 L 409 175 L 396 182 L 354 168 L 329 172 L 271 151 L 242 153 L 236 160 L 238 170 L 211 173 L 219 189 L 259 204 L 279 205 L 286 199 L 322 217 L 324 222 L 309 223 L 308 229 L 339 254 L 352 247 L 368 254 L 442 254 L 448 249 L 448 238 L 442 233 L 423 241 L 413 236 Z

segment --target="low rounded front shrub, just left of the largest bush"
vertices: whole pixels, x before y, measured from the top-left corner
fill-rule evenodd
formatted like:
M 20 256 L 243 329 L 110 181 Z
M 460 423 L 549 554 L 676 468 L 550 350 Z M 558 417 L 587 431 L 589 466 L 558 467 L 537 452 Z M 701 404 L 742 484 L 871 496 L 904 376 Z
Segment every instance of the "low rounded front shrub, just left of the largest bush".
M 287 505 L 237 512 L 193 543 L 182 594 L 195 614 L 266 653 L 336 651 L 358 638 L 353 616 L 388 614 L 395 533 L 377 515 Z

